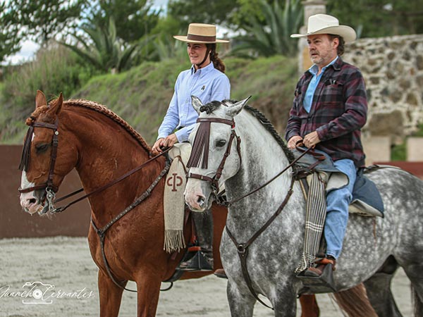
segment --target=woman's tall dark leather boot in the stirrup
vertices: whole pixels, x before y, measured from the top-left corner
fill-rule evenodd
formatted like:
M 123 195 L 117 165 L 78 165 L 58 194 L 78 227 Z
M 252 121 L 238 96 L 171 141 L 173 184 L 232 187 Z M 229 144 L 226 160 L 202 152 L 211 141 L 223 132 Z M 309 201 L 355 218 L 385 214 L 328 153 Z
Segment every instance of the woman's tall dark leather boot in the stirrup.
M 197 233 L 197 242 L 201 251 L 188 261 L 180 263 L 183 271 L 212 271 L 213 270 L 213 216 L 209 210 L 204 213 L 191 212 Z M 205 261 L 204 261 L 205 260 Z

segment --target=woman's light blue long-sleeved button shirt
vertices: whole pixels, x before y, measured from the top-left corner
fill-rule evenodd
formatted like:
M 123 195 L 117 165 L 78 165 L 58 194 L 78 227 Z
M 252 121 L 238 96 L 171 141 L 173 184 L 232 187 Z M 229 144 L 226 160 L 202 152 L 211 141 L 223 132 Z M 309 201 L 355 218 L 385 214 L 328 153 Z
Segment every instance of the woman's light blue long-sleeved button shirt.
M 200 98 L 203 104 L 210 101 L 229 99 L 231 84 L 228 77 L 209 63 L 195 72 L 194 66 L 178 75 L 175 92 L 169 104 L 166 116 L 159 128 L 159 136 L 167 137 L 175 129 L 178 142 L 188 141 L 188 136 L 195 126 L 198 113 L 192 107 L 191 95 Z

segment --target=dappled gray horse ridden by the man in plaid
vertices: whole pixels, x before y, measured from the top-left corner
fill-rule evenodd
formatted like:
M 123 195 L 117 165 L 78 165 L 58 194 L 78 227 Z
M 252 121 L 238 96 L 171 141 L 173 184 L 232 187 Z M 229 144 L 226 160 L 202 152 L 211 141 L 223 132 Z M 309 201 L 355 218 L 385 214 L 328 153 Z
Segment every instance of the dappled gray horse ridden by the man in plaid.
M 238 200 L 274 178 L 293 160 L 292 153 L 261 113 L 250 107 L 242 111 L 245 103 L 246 100 L 223 101 L 223 104 L 214 101 L 203 106 L 193 97 L 192 104 L 201 113 L 190 142 L 194 142 L 199 130 L 204 134 L 207 125 L 209 142 L 203 142 L 207 144 L 200 150 L 196 148 L 197 141 L 193 144 L 192 154 L 197 151 L 198 165 L 192 166 L 199 167 L 190 168 L 188 175 L 194 178 L 188 180 L 185 201 L 193 211 L 205 211 L 216 194 L 216 187 L 223 182 L 227 199 L 232 201 L 226 222 L 228 231 L 223 232 L 221 240 L 232 316 L 252 316 L 256 302 L 253 292 L 269 299 L 275 316 L 295 316 L 295 299 L 302 282 L 295 277 L 294 270 L 302 253 L 305 200 L 298 182 L 292 181 L 291 168 L 262 189 Z M 223 159 L 225 153 L 227 158 Z M 382 168 L 368 177 L 381 192 L 385 217 L 350 215 L 343 251 L 333 273 L 336 290 L 347 290 L 372 278 L 387 262 L 393 271 L 399 264 L 412 283 L 415 314 L 422 316 L 423 182 L 396 168 Z M 240 247 L 237 249 L 234 241 L 248 242 L 281 206 L 281 213 L 248 247 L 249 288 L 240 266 Z M 386 301 L 379 302 L 380 306 L 395 306 L 393 299 L 388 298 L 391 297 L 388 287 L 387 282 L 376 283 L 374 290 L 368 292 L 386 294 L 380 298 Z M 369 294 L 372 296 L 376 295 Z M 397 313 L 385 316 L 397 316 Z

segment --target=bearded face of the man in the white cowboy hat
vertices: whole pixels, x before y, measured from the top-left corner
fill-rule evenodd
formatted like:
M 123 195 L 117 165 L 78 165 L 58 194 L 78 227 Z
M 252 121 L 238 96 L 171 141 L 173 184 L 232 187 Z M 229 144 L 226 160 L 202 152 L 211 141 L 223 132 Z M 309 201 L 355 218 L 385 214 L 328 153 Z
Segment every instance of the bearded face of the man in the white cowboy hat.
M 330 39 L 327 34 L 309 35 L 307 37 L 309 47 L 309 56 L 312 62 L 320 68 L 328 65 L 338 55 L 336 48 L 338 47 L 338 38 Z

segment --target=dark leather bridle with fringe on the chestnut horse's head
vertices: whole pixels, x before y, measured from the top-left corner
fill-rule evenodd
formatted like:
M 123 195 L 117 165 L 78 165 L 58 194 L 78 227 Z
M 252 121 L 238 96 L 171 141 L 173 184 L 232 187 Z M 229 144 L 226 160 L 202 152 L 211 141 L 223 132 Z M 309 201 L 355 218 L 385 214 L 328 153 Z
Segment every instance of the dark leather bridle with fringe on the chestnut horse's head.
M 47 178 L 47 182 L 41 185 L 35 185 L 32 187 L 18 189 L 21 194 L 25 192 L 32 192 L 38 189 L 45 189 L 47 200 L 41 213 L 46 213 L 47 211 L 54 210 L 53 201 L 56 198 L 56 192 L 58 190 L 58 187 L 53 184 L 54 166 L 56 165 L 57 147 L 59 145 L 58 127 L 59 127 L 59 119 L 56 119 L 54 124 L 44 123 L 44 122 L 32 122 L 30 125 L 30 128 L 27 131 L 27 135 L 25 137 L 22 157 L 20 159 L 20 164 L 19 164 L 19 169 L 25 170 L 26 172 L 27 168 L 30 165 L 31 143 L 32 143 L 32 137 L 34 136 L 34 128 L 47 128 L 47 129 L 53 130 L 53 137 L 51 138 L 50 168 L 49 168 L 49 176 Z

